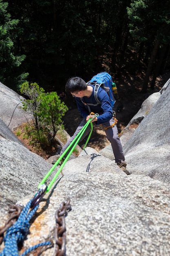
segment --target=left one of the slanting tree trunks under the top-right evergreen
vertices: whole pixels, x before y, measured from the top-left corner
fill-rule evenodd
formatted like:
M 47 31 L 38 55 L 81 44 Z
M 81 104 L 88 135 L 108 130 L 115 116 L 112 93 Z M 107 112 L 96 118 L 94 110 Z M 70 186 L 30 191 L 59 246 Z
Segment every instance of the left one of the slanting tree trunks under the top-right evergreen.
M 148 67 L 147 67 L 147 71 L 146 71 L 146 76 L 145 76 L 145 79 L 144 79 L 144 83 L 143 83 L 141 92 L 144 92 L 144 93 L 147 92 L 148 80 L 149 80 L 150 73 L 151 73 L 151 71 L 152 71 L 153 63 L 154 63 L 155 58 L 156 58 L 156 55 L 157 55 L 157 51 L 158 51 L 158 48 L 159 48 L 159 44 L 160 44 L 160 42 L 159 42 L 159 40 L 157 39 L 156 42 L 155 42 L 155 46 L 154 46 L 154 48 L 153 48 L 153 51 L 152 51 L 152 54 L 151 54 L 149 63 L 148 63 Z

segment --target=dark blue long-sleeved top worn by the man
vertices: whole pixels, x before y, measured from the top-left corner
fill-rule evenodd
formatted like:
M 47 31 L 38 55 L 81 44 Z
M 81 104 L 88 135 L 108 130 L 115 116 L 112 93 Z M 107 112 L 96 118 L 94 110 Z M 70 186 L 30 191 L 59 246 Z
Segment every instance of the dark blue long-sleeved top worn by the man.
M 88 107 L 86 106 L 86 103 L 96 104 L 96 100 L 94 97 L 94 85 L 90 85 L 90 86 L 93 87 L 93 92 L 91 94 L 91 97 L 87 98 L 85 96 L 82 98 L 82 100 L 79 97 L 75 97 L 77 102 L 77 108 L 81 113 L 82 117 L 84 118 L 86 118 L 86 116 L 90 114 L 88 111 Z M 97 106 L 90 106 L 90 109 L 91 109 L 91 112 L 94 112 L 95 114 L 96 113 L 99 114 L 99 117 L 97 117 L 97 124 L 104 124 L 113 117 L 113 109 L 110 104 L 110 99 L 108 97 L 108 94 L 107 92 L 105 92 L 104 89 L 99 88 L 97 97 L 101 102 L 101 104 L 98 104 Z

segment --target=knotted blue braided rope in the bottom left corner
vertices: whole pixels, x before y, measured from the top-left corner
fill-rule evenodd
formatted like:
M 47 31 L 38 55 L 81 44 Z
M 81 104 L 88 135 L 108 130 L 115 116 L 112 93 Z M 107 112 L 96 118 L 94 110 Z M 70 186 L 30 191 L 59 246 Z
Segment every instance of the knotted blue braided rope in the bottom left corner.
M 24 242 L 24 239 L 26 238 L 29 232 L 29 227 L 30 227 L 29 221 L 31 220 L 32 216 L 37 211 L 39 206 L 37 205 L 28 214 L 28 211 L 31 206 L 31 202 L 32 202 L 32 199 L 26 204 L 26 206 L 20 213 L 20 216 L 18 220 L 14 223 L 14 225 L 7 230 L 7 233 L 4 236 L 5 247 L 0 253 L 0 256 L 19 256 L 18 244 Z M 34 245 L 33 247 L 27 249 L 21 256 L 25 256 L 26 254 L 33 251 L 34 249 L 37 249 L 40 246 L 46 246 L 46 245 L 51 245 L 51 242 L 44 242 L 38 245 Z

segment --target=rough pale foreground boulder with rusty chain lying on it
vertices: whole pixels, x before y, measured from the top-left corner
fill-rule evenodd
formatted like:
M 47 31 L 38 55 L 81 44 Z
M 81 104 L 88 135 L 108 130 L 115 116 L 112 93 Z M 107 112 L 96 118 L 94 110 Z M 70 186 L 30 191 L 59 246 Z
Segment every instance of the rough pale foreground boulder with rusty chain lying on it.
M 66 256 L 170 255 L 170 186 L 150 177 L 107 171 L 63 171 L 62 179 L 40 203 L 24 249 L 55 241 L 55 212 L 70 198 Z M 26 204 L 28 198 L 20 202 Z M 55 247 L 42 255 L 54 252 Z

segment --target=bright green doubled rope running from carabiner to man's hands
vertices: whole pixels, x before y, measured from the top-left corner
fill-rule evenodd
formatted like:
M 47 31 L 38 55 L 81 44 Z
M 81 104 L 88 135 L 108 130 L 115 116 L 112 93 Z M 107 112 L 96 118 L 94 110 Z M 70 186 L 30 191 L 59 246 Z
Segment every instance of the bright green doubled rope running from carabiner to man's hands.
M 93 118 L 97 117 L 98 114 L 95 114 Z M 70 152 L 68 153 L 68 155 L 66 156 L 66 158 L 64 159 L 62 165 L 60 166 L 60 168 L 58 169 L 57 173 L 55 174 L 55 176 L 53 177 L 53 179 L 51 180 L 49 186 L 46 189 L 46 193 L 51 189 L 51 186 L 53 185 L 53 183 L 55 182 L 55 180 L 57 179 L 58 175 L 60 174 L 60 172 L 62 171 L 62 168 L 64 167 L 64 165 L 66 164 L 68 158 L 70 157 L 70 155 L 72 154 L 73 150 L 75 149 L 75 147 L 77 146 L 77 144 L 79 143 L 79 140 L 81 139 L 82 135 L 84 134 L 86 128 L 88 127 L 88 125 L 90 124 L 91 120 L 93 120 L 93 118 L 88 119 L 87 123 L 83 126 L 82 130 L 76 135 L 76 137 L 73 139 L 73 141 L 71 142 L 71 144 L 66 148 L 66 150 L 62 153 L 62 155 L 57 159 L 56 163 L 53 165 L 53 167 L 49 170 L 49 172 L 45 175 L 45 177 L 42 179 L 42 181 L 40 182 L 40 184 L 38 185 L 38 189 L 40 189 L 40 186 L 42 184 L 44 184 L 46 182 L 46 180 L 48 179 L 48 177 L 51 175 L 51 173 L 53 172 L 53 170 L 55 169 L 55 167 L 60 163 L 60 161 L 62 160 L 62 158 L 64 157 L 64 155 L 68 152 L 68 150 L 71 148 Z M 90 139 L 91 133 L 93 132 L 93 124 L 91 123 L 91 132 L 88 136 L 88 139 L 86 141 L 86 144 L 88 143 L 88 140 Z M 74 144 L 74 145 L 73 145 Z M 85 144 L 85 146 L 86 146 Z M 85 148 L 84 146 L 84 148 Z M 83 149 L 84 149 L 83 148 Z

